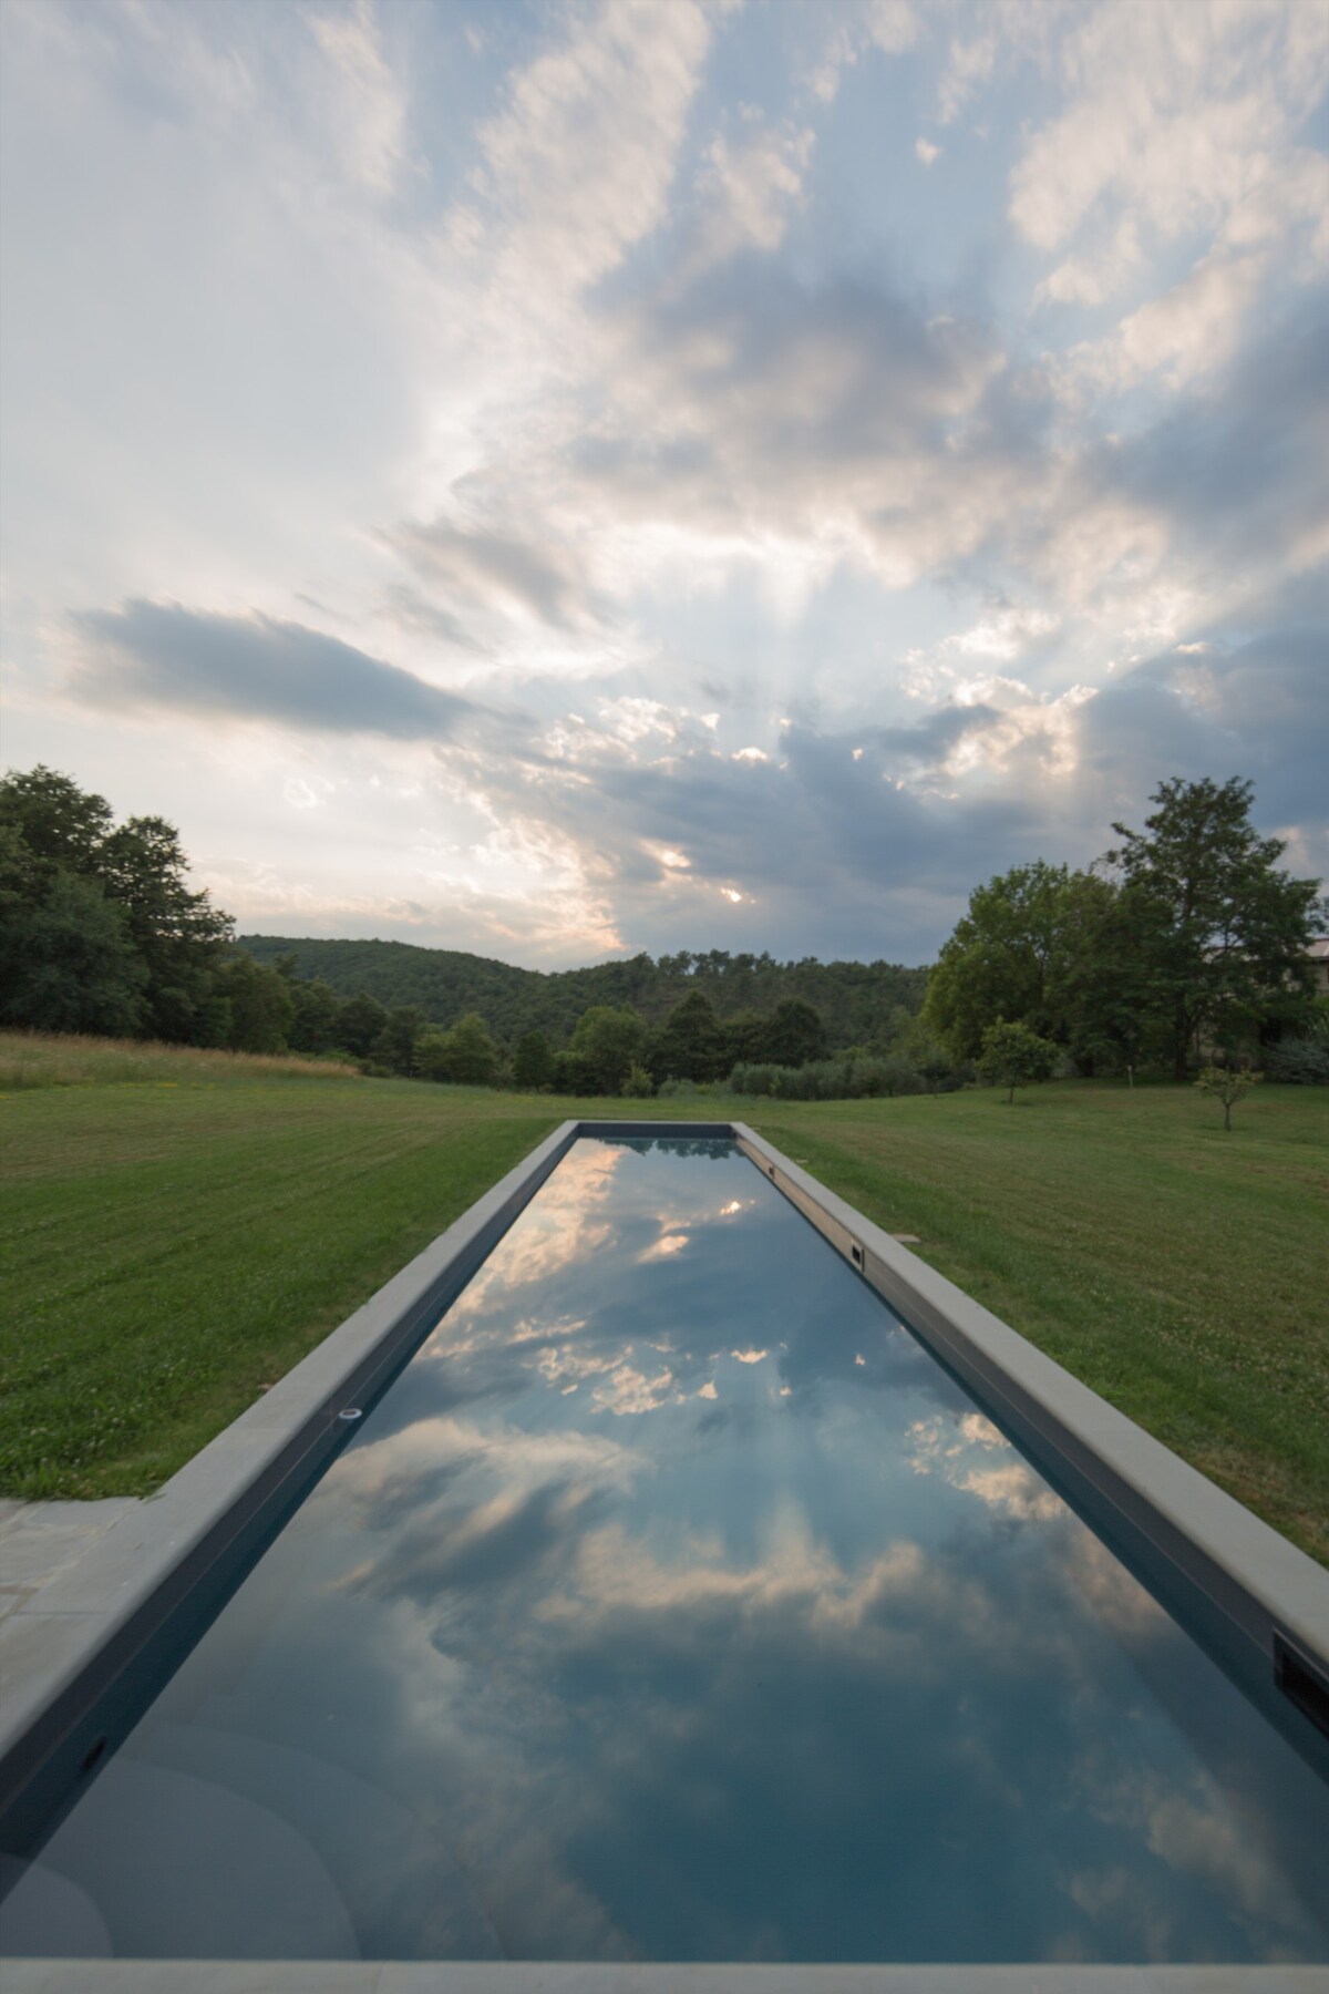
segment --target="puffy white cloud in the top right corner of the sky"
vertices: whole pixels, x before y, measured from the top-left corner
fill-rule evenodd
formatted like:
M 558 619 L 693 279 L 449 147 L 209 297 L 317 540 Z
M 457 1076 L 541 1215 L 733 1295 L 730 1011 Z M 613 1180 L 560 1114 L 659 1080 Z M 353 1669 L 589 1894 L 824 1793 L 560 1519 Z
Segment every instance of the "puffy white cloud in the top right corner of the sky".
M 1329 261 L 1329 162 L 1299 126 L 1329 84 L 1315 6 L 1172 4 L 1084 12 L 1060 48 L 1066 106 L 1024 146 L 1010 217 L 1046 251 L 1082 243 L 1036 301 L 1102 307 L 1164 245 L 1201 237 L 1192 271 L 1080 349 L 1096 387 L 1221 367 L 1277 273 Z

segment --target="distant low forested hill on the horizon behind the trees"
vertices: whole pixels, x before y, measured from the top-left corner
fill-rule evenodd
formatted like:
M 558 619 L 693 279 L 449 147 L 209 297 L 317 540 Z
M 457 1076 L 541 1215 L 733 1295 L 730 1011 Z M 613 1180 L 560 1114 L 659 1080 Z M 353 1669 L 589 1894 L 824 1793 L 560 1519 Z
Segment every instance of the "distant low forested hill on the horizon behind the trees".
M 367 991 L 379 1003 L 418 1005 L 430 1023 L 448 1027 L 478 1011 L 512 1045 L 524 1031 L 544 1031 L 562 1045 L 590 1005 L 634 1005 L 648 1023 L 665 1019 L 689 991 L 701 989 L 719 1017 L 773 1011 L 801 997 L 817 1007 L 829 1047 L 867 1045 L 903 1005 L 923 1003 L 927 969 L 899 963 L 777 963 L 771 955 L 634 955 L 592 969 L 514 969 L 458 949 L 416 949 L 406 941 L 309 941 L 291 935 L 241 935 L 261 963 L 295 957 L 299 977 L 321 977 L 339 995 Z

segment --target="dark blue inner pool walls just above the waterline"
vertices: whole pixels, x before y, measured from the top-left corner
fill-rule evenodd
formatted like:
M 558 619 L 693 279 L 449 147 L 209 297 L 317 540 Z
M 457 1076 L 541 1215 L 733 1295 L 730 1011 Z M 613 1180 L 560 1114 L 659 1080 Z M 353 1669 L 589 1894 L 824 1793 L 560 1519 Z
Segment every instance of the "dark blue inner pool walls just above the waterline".
M 982 1360 L 964 1332 L 944 1322 L 923 1296 L 913 1298 L 915 1306 L 909 1298 L 897 1298 L 903 1282 L 897 1270 L 871 1252 L 867 1240 L 877 1228 L 869 1220 L 853 1214 L 859 1226 L 851 1230 L 811 1188 L 805 1188 L 815 1184 L 807 1172 L 741 1123 L 584 1121 L 564 1125 L 556 1137 L 560 1137 L 558 1147 L 530 1170 L 500 1212 L 400 1312 L 375 1348 L 349 1370 L 337 1392 L 301 1424 L 267 1470 L 229 1503 L 153 1589 L 139 1613 L 112 1633 L 68 1685 L 64 1697 L 10 1751 L 0 1765 L 6 1791 L 0 1811 L 2 1854 L 34 1860 L 353 1438 L 359 1422 L 341 1422 L 341 1408 L 355 1404 L 369 1412 L 383 1398 L 580 1139 L 733 1143 L 885 1302 L 976 1410 L 1000 1428 L 1132 1577 L 1197 1641 L 1247 1701 L 1255 1703 L 1293 1751 L 1329 1781 L 1329 1737 L 1317 1727 L 1315 1699 L 1295 1695 L 1297 1673 L 1287 1671 L 1275 1657 L 1293 1651 L 1301 1655 L 1303 1667 L 1309 1661 L 1313 1671 L 1321 1667 L 1319 1659 L 1307 1657 L 1305 1643 L 1289 1639 L 1277 1625 L 1269 1635 L 1269 1647 L 1261 1647 L 1253 1623 L 1269 1627 L 1269 1615 L 1231 1575 L 1215 1567 L 1178 1525 L 1118 1476 L 1110 1462 L 1078 1444 L 1032 1394 L 1016 1386 L 992 1360 Z M 851 1210 L 825 1186 L 817 1184 L 817 1190 L 833 1206 Z M 857 1236 L 859 1230 L 863 1238 Z M 907 1258 L 913 1260 L 913 1254 Z

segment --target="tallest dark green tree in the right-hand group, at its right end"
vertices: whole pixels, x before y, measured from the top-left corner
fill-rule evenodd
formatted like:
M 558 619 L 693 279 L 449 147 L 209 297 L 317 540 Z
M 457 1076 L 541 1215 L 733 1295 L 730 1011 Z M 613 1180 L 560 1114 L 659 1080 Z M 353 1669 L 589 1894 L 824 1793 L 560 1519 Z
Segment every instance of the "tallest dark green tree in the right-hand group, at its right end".
M 1154 792 L 1144 831 L 1112 826 L 1122 843 L 1106 863 L 1136 937 L 1136 1005 L 1162 1031 L 1178 1081 L 1199 1039 L 1231 1047 L 1271 1007 L 1295 1017 L 1311 1003 L 1319 881 L 1277 869 L 1287 845 L 1257 833 L 1251 798 L 1239 776 L 1176 776 Z

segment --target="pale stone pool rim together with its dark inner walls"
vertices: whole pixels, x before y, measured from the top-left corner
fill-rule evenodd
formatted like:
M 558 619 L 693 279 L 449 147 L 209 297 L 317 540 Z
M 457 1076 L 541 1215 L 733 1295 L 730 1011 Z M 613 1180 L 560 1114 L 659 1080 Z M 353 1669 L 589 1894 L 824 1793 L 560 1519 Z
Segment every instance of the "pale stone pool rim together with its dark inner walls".
M 112 1523 L 88 1555 L 40 1585 L 0 1621 L 0 1791 L 14 1795 L 10 1821 L 20 1832 L 44 1819 L 52 1795 L 74 1789 L 80 1769 L 120 1741 L 133 1721 L 124 1685 L 151 1673 L 179 1649 L 173 1629 L 189 1601 L 243 1565 L 265 1519 L 309 1484 L 341 1436 L 339 1414 L 381 1390 L 438 1314 L 470 1280 L 524 1204 L 578 1137 L 717 1137 L 743 1155 L 817 1226 L 911 1328 L 992 1406 L 1016 1440 L 1070 1499 L 1090 1501 L 1106 1535 L 1128 1563 L 1146 1559 L 1166 1603 L 1184 1619 L 1237 1651 L 1237 1675 L 1267 1689 L 1281 1653 L 1311 1671 L 1327 1669 L 1329 1573 L 1152 1440 L 1096 1392 L 1042 1356 L 1026 1338 L 936 1274 L 801 1164 L 783 1157 L 745 1123 L 566 1121 L 516 1168 L 484 1192 L 446 1232 L 416 1254 L 369 1302 L 333 1330 L 255 1406 L 203 1448 L 153 1497 Z M 1102 1525 L 1100 1525 L 1102 1527 Z M 1156 1583 L 1156 1589 L 1158 1583 Z M 1281 1643 L 1281 1647 L 1277 1645 Z M 108 1717 L 122 1687 L 120 1721 Z M 1267 1699 L 1265 1699 L 1267 1701 Z M 1285 1703 L 1287 1699 L 1279 1699 Z M 1287 1705 L 1285 1729 L 1307 1729 Z M 1305 1743 L 1305 1741 L 1303 1741 Z M 126 1978 L 122 1978 L 122 1968 Z M 22 1980 L 16 1978 L 22 1970 Z M 4 1966 L 14 1994 L 64 1994 L 104 1986 L 295 1990 L 313 1986 L 297 1962 L 16 1962 Z M 673 1994 L 673 1988 L 773 1990 L 795 1984 L 837 1990 L 968 1990 L 1074 1986 L 1168 1988 L 1329 1988 L 1325 1968 L 775 1968 L 775 1966 L 404 1966 L 319 1962 L 317 1984 L 375 1994 L 562 1994 L 586 1984 L 614 1994 Z M 151 1974 L 151 1978 L 149 1978 Z M 181 1974 L 185 1978 L 181 1978 Z M 259 1974 L 261 1978 L 253 1978 Z M 347 1974 L 361 1978 L 345 1978 Z M 697 1976 L 703 1978 L 697 1978 Z M 936 1976 L 942 1978 L 936 1978 Z M 1084 1978 L 1084 1976 L 1090 1978 Z M 1110 1978 L 1116 1974 L 1118 1978 Z M 1128 1978 L 1120 1978 L 1126 1974 Z M 1190 1978 L 1186 1978 L 1190 1974 Z M 1311 1978 L 1307 1978 L 1307 1974 Z M 62 1978 L 56 1978 L 62 1976 Z M 367 1978 L 369 1976 L 369 1978 Z M 377 1976 L 377 1978 L 375 1978 Z M 414 1978 L 404 1978 L 414 1976 Z M 608 1978 L 606 1978 L 608 1976 Z M 793 1978 L 791 1978 L 793 1976 Z M 948 1976 L 948 1978 L 946 1978 Z M 996 1978 L 994 1978 L 996 1976 Z M 1012 1978 L 1014 1976 L 1014 1978 Z M 1072 1978 L 1074 1976 L 1074 1978 Z M 1172 1976 L 1172 1978 L 1168 1978 Z M 1178 1978 L 1182 1976 L 1182 1978 Z M 1273 1976 L 1273 1978 L 1269 1978 Z

